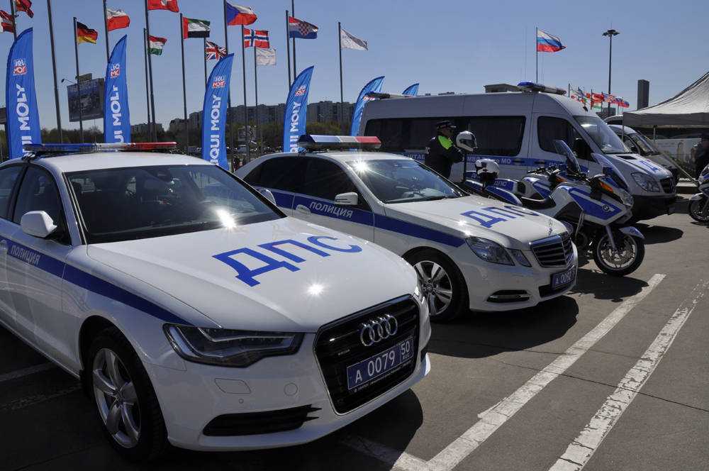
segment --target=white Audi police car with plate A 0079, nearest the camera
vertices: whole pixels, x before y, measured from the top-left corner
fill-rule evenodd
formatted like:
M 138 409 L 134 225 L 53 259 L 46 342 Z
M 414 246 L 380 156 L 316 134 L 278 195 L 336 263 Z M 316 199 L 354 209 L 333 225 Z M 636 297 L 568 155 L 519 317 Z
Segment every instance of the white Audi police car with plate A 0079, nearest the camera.
M 400 257 L 203 160 L 95 152 L 118 148 L 164 145 L 0 165 L 0 321 L 82 378 L 128 458 L 303 443 L 428 373 Z

